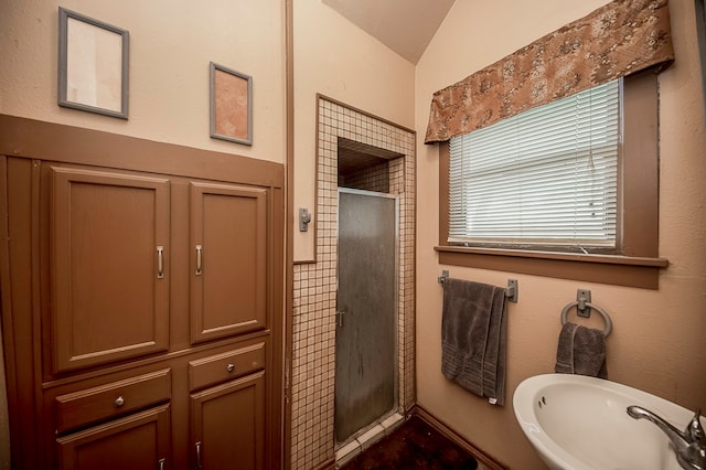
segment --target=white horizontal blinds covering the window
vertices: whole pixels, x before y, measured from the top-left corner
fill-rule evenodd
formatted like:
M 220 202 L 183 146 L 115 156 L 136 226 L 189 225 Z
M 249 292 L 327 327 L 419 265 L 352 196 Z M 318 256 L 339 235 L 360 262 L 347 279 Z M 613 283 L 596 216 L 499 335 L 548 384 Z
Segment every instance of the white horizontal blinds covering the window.
M 451 244 L 614 247 L 622 81 L 451 139 Z

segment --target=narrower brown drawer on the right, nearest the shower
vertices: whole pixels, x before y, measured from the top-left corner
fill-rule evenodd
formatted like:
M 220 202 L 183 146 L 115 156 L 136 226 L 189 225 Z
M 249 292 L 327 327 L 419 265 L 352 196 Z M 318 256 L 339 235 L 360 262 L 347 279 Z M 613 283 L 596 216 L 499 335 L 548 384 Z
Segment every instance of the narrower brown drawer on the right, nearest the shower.
M 191 361 L 189 383 L 197 389 L 265 368 L 265 343 Z

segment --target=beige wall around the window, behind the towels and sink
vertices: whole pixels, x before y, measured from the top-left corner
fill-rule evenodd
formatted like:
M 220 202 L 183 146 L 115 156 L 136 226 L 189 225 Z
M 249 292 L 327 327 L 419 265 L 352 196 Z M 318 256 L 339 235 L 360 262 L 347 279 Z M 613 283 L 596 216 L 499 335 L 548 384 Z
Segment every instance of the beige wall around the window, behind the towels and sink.
M 422 136 L 426 129 L 432 92 L 605 3 L 457 1 L 416 71 L 417 132 Z M 659 290 L 440 266 L 434 252 L 438 148 L 418 145 L 418 402 L 512 468 L 543 468 L 515 421 L 512 394 L 524 378 L 554 371 L 559 313 L 575 300 L 577 288 L 591 289 L 593 302 L 612 316 L 610 380 L 688 408 L 706 406 L 706 137 L 693 9 L 692 0 L 670 2 L 676 62 L 660 78 L 660 256 L 670 260 L 670 267 L 662 273 Z M 520 302 L 511 303 L 507 312 L 504 407 L 489 405 L 441 375 L 442 289 L 436 281 L 441 269 L 449 269 L 453 277 L 501 286 L 510 277 L 520 280 Z

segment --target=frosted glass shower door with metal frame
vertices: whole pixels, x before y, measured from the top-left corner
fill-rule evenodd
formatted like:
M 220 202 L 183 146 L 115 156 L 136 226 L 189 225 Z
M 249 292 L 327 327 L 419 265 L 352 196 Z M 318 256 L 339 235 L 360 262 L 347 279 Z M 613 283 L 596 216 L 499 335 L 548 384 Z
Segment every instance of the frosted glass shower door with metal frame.
M 345 441 L 396 396 L 397 199 L 339 190 L 335 436 Z

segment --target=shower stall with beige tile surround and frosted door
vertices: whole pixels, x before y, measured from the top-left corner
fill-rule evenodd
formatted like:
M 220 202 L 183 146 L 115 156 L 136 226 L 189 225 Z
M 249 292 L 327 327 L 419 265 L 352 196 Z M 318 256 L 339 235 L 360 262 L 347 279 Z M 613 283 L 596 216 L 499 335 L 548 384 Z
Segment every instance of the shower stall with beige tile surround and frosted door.
M 293 274 L 291 468 L 302 470 L 351 456 L 415 403 L 415 132 L 321 95 L 317 107 L 314 258 Z M 355 239 L 378 236 L 363 256 Z

